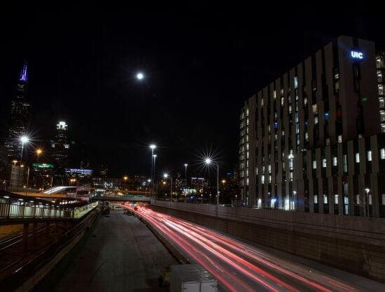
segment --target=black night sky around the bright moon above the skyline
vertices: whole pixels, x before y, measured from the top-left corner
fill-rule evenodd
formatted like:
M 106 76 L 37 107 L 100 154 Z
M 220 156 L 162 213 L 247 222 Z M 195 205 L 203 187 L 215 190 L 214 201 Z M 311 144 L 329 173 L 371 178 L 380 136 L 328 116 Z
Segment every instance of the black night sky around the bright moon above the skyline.
M 158 172 L 183 173 L 183 163 L 196 164 L 207 151 L 218 154 L 223 172 L 231 170 L 246 98 L 340 34 L 384 46 L 383 12 L 361 1 L 322 3 L 281 12 L 198 5 L 1 10 L 1 138 L 27 59 L 29 131 L 44 143 L 66 121 L 70 166 L 87 159 L 106 163 L 111 175 L 149 175 L 148 144 L 156 143 Z M 197 174 L 197 166 L 189 171 Z

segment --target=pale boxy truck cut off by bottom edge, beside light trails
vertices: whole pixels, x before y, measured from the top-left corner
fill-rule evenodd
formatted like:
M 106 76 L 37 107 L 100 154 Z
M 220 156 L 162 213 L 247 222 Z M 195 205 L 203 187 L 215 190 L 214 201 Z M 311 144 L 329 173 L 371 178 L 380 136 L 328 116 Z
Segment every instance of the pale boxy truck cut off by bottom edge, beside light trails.
M 201 265 L 172 265 L 171 292 L 217 292 L 218 281 Z

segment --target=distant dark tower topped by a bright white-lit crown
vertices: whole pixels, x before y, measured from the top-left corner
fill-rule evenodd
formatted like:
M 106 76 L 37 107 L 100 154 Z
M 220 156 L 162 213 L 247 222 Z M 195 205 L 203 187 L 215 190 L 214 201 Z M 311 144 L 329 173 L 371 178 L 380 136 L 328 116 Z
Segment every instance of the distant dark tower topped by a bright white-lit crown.
M 55 141 L 52 143 L 52 161 L 55 163 L 55 175 L 57 179 L 63 178 L 65 175 L 65 168 L 68 162 L 69 144 L 67 143 L 68 125 L 66 122 L 59 122 L 56 125 Z

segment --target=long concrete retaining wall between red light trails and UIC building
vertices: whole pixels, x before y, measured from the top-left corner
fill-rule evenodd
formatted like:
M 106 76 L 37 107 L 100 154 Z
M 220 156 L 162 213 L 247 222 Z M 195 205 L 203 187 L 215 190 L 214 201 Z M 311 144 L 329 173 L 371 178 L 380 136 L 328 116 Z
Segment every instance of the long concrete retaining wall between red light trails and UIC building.
M 385 219 L 151 200 L 160 212 L 385 282 Z

